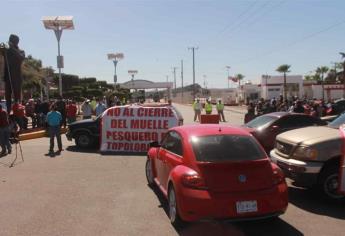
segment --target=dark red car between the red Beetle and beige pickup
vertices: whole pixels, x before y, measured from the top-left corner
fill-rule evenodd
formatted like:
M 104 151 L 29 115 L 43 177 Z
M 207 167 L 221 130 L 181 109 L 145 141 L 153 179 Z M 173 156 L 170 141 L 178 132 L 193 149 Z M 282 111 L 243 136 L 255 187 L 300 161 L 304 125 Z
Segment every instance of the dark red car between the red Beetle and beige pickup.
M 244 124 L 249 131 L 269 153 L 274 148 L 276 136 L 288 130 L 306 126 L 326 125 L 327 122 L 317 117 L 303 113 L 273 112 L 256 117 Z

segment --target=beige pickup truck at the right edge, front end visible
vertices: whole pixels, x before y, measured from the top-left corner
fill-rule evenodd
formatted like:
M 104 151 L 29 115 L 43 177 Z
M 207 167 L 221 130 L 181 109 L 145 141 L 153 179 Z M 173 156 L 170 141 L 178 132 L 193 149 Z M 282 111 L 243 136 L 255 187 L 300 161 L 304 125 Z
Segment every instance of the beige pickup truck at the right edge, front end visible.
M 301 128 L 278 135 L 270 153 L 272 161 L 296 185 L 317 187 L 331 200 L 344 198 L 337 192 L 342 156 L 339 126 L 344 123 L 343 113 L 327 126 Z

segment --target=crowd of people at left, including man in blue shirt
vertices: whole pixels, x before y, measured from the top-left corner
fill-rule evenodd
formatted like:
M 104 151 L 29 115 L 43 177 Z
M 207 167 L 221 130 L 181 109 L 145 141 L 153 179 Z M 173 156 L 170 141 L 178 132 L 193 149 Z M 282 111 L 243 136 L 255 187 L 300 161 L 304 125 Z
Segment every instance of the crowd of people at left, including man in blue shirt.
M 63 99 L 61 96 L 55 100 L 28 99 L 15 102 L 5 109 L 0 105 L 0 157 L 12 151 L 10 137 L 17 137 L 20 132 L 32 129 L 47 129 L 50 137 L 49 155 L 54 154 L 54 139 L 57 139 L 58 152 L 63 151 L 61 143 L 61 127 L 66 127 L 77 120 L 89 119 L 92 115 L 101 115 L 109 106 L 122 105 L 115 96 L 113 100 L 103 98 L 85 99 L 82 104 L 74 100 Z

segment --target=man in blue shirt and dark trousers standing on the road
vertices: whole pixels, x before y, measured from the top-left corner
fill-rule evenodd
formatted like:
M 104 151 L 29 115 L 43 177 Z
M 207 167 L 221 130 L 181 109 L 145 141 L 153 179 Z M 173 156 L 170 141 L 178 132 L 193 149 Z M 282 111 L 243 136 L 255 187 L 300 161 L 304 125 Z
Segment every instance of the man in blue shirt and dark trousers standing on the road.
M 54 156 L 54 138 L 56 137 L 59 151 L 60 153 L 62 150 L 62 142 L 61 142 L 61 121 L 62 116 L 60 112 L 56 111 L 55 104 L 52 106 L 51 111 L 47 114 L 47 123 L 48 123 L 48 133 L 50 137 L 50 146 L 49 146 L 49 155 Z

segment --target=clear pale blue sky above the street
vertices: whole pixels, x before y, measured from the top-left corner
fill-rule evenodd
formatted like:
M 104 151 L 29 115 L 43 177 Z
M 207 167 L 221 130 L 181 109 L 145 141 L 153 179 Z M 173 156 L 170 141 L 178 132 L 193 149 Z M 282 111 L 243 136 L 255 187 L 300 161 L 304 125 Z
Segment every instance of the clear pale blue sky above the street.
M 345 51 L 343 0 L 1 0 L 0 42 L 17 34 L 20 48 L 56 69 L 57 41 L 43 16 L 73 16 L 75 29 L 64 31 L 64 73 L 113 81 L 108 53 L 121 52 L 118 82 L 136 79 L 228 86 L 230 75 L 258 83 L 262 74 L 277 75 L 281 64 L 290 74 L 306 75 L 318 66 L 341 61 Z M 230 87 L 236 86 L 230 83 Z

